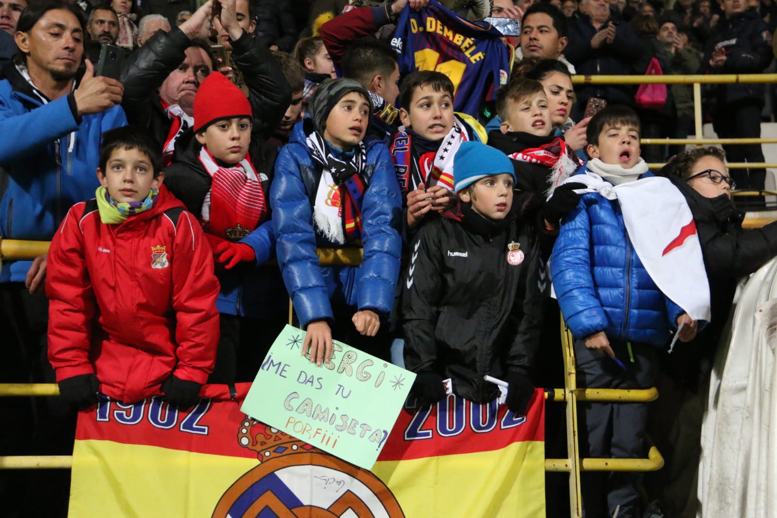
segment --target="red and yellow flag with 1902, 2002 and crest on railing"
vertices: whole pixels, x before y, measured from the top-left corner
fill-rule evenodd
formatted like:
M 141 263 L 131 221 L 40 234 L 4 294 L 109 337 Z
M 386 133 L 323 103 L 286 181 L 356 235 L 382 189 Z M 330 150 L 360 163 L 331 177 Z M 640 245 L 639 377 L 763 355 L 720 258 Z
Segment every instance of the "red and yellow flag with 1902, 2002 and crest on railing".
M 240 412 L 249 386 L 79 412 L 68 516 L 545 516 L 542 389 L 522 416 L 455 395 L 403 410 L 368 471 Z

